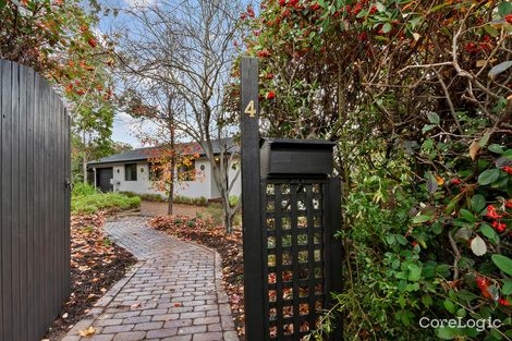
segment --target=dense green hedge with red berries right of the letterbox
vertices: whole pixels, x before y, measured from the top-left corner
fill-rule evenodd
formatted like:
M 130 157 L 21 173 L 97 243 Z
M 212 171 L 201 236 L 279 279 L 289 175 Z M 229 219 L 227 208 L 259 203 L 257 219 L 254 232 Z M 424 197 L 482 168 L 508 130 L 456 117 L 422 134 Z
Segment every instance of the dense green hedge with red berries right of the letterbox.
M 272 0 L 242 21 L 263 135 L 337 142 L 345 338 L 512 338 L 512 3 Z

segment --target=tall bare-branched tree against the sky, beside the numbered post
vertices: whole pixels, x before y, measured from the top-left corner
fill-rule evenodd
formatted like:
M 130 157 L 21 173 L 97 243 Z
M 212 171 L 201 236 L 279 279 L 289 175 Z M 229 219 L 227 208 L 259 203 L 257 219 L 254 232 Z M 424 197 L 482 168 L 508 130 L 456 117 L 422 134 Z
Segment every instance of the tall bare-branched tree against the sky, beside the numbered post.
M 184 114 L 175 118 L 176 127 L 197 142 L 209 159 L 224 226 L 231 232 L 240 207 L 229 204 L 237 175 L 228 176 L 234 154 L 225 137 L 235 127 L 227 123 L 223 85 L 230 77 L 240 8 L 227 0 L 164 0 L 130 8 L 125 14 L 130 25 L 122 27 L 121 68 L 173 88 L 185 101 Z

